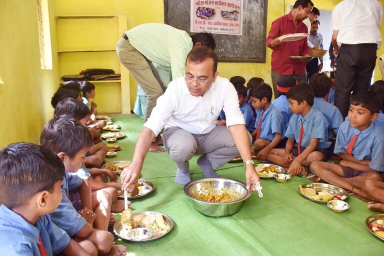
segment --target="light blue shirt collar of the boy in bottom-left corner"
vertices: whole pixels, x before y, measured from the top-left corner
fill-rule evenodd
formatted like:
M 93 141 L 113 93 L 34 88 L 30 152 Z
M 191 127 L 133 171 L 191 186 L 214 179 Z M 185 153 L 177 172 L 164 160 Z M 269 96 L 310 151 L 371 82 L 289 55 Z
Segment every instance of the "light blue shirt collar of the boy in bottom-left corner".
M 30 224 L 22 216 L 6 207 L 4 204 L 0 206 L 0 216 L 2 218 L 1 222 L 5 223 L 7 226 L 13 226 L 22 230 L 23 235 L 27 236 L 29 240 L 36 243 L 38 242 L 39 231 L 37 227 Z

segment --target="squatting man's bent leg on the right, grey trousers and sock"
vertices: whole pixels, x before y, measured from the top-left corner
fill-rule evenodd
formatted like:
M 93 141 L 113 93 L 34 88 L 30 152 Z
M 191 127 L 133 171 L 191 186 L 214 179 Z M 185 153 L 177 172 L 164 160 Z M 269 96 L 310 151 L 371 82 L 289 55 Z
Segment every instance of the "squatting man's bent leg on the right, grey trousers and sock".
M 236 157 L 239 152 L 234 143 L 230 130 L 225 126 L 216 126 L 206 134 L 194 135 L 197 140 L 197 154 L 202 154 L 197 159 L 205 177 L 218 177 L 213 168 L 219 168 Z M 249 147 L 252 138 L 248 133 Z

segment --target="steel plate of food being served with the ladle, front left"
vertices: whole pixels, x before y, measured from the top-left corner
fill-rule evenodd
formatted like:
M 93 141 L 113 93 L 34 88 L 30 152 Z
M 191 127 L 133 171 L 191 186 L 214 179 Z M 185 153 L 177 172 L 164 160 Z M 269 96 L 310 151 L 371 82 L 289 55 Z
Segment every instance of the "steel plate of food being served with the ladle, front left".
M 140 232 L 138 228 L 149 229 L 151 236 L 147 237 L 147 232 Z M 166 214 L 156 211 L 132 212 L 129 208 L 113 224 L 113 232 L 117 236 L 134 242 L 156 240 L 169 233 L 172 228 L 173 220 Z

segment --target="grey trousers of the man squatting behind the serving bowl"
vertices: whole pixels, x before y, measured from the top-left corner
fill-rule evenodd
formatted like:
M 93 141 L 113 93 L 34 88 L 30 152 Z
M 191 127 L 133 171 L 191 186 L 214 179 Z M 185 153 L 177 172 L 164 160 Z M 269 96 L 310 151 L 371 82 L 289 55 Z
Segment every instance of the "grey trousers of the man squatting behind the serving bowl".
M 226 126 L 216 126 L 205 134 L 191 134 L 172 127 L 164 131 L 162 139 L 166 152 L 177 165 L 182 165 L 194 154 L 206 154 L 212 166 L 219 168 L 239 154 Z

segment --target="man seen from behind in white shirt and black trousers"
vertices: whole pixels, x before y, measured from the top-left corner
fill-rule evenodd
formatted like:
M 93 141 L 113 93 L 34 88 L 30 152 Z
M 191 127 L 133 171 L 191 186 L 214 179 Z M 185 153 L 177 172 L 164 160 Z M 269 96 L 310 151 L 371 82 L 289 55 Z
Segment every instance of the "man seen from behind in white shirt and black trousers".
M 350 92 L 367 90 L 381 44 L 382 5 L 377 0 L 343 0 L 332 11 L 332 45 L 337 58 L 334 105 L 348 114 Z

